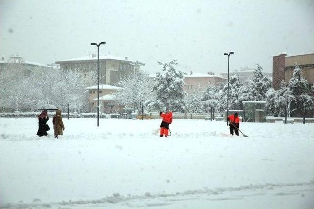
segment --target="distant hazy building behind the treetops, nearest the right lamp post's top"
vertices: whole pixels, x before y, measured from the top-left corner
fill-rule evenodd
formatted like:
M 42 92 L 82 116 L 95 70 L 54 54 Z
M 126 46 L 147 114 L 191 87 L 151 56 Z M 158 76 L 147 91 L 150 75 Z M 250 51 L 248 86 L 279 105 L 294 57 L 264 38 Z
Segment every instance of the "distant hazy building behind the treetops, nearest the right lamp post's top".
M 250 81 L 253 78 L 253 72 L 255 69 L 253 68 L 240 68 L 239 70 L 233 70 L 229 72 L 229 76 L 231 76 L 232 74 L 236 74 L 239 76 L 239 80 L 240 82 L 244 85 L 244 86 L 248 86 Z M 263 72 L 264 75 L 269 78 L 270 80 L 272 80 L 272 73 L 271 72 Z M 220 75 L 223 78 L 228 79 L 228 72 L 223 72 L 220 73 Z

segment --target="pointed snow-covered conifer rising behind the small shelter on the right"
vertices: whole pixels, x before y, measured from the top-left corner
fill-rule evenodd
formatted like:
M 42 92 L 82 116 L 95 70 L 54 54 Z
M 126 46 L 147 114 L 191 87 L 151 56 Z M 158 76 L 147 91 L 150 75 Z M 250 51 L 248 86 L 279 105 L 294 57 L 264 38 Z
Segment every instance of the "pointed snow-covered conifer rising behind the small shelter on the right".
M 262 67 L 256 64 L 257 68 L 253 72 L 253 79 L 247 88 L 242 88 L 240 100 L 262 101 L 266 99 L 266 93 L 271 87 L 270 80 L 262 72 Z

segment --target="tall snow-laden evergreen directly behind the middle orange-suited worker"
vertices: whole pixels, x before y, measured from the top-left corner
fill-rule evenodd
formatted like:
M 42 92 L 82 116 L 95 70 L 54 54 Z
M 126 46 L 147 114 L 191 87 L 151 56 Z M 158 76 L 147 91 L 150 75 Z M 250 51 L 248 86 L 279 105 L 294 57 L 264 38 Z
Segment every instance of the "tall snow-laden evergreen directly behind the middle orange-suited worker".
M 158 73 L 154 79 L 152 91 L 157 94 L 155 103 L 162 103 L 167 110 L 184 111 L 184 96 L 186 92 L 183 90 L 185 85 L 183 80 L 183 72 L 176 70 L 177 60 L 169 63 L 158 62 L 162 66 L 162 72 Z

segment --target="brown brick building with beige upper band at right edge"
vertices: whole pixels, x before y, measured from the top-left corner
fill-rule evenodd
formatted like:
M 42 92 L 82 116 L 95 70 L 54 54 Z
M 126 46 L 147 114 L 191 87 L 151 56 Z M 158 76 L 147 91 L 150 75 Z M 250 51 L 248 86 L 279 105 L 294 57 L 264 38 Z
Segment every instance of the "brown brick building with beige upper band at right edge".
M 301 68 L 301 76 L 313 85 L 314 52 L 288 56 L 284 52 L 273 56 L 273 88 L 275 90 L 280 89 L 281 81 L 288 84 L 296 65 Z

